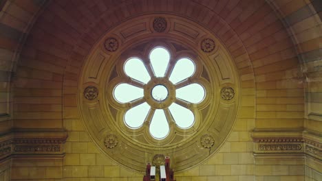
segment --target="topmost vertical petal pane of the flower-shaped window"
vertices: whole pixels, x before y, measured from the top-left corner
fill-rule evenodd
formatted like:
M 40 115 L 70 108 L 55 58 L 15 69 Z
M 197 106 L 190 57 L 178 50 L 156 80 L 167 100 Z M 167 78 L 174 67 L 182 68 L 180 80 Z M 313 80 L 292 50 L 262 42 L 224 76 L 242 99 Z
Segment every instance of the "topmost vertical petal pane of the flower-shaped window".
M 163 77 L 167 70 L 170 54 L 167 49 L 158 47 L 150 53 L 150 61 L 155 77 Z

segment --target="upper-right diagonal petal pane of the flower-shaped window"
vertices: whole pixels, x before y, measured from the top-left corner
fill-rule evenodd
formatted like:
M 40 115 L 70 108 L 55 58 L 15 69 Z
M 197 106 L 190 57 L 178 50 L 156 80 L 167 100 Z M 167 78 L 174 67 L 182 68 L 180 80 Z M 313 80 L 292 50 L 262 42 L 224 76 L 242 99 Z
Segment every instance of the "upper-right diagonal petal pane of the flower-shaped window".
M 193 75 L 193 73 L 195 73 L 195 64 L 188 58 L 182 58 L 175 64 L 169 80 L 173 84 L 177 84 Z

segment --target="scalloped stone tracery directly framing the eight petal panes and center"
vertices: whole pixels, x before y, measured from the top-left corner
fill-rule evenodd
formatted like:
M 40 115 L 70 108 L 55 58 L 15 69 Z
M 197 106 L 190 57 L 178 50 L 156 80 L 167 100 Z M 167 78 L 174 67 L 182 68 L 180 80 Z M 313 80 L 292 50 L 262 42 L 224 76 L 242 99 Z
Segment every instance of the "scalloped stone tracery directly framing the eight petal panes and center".
M 144 42 L 144 40 L 142 42 Z M 153 49 L 155 48 L 162 47 L 167 51 L 169 51 L 169 54 L 170 54 L 169 67 L 172 66 L 173 68 L 175 66 L 175 63 L 178 62 L 178 60 L 180 60 L 181 58 L 188 58 L 189 60 L 193 61 L 193 64 L 195 64 L 195 71 L 193 75 L 189 77 L 189 82 L 191 82 L 190 84 L 193 84 L 193 83 L 200 84 L 206 92 L 205 95 L 207 93 L 210 93 L 211 95 L 213 94 L 212 88 L 210 87 L 209 82 L 207 82 L 206 80 L 204 80 L 204 78 L 201 77 L 203 65 L 200 58 L 196 56 L 195 52 L 193 52 L 192 50 L 190 51 L 186 50 L 186 51 L 180 51 L 177 53 L 177 51 L 175 50 L 175 47 L 171 45 L 170 43 L 171 41 L 167 39 L 145 40 L 145 42 L 147 42 L 147 45 L 144 47 L 144 51 L 136 51 L 133 49 L 128 49 L 122 52 L 122 56 L 120 56 L 120 58 L 116 60 L 116 62 L 118 63 L 114 65 L 116 67 L 116 73 L 119 76 L 111 80 L 111 82 L 109 82 L 109 86 L 107 86 L 105 90 L 106 93 L 109 93 L 110 92 L 109 90 L 112 90 L 117 84 L 120 84 L 120 83 L 129 83 L 133 85 L 140 84 L 142 86 L 141 83 L 131 79 L 125 73 L 124 71 L 125 63 L 127 62 L 127 60 L 129 60 L 129 58 L 138 58 L 142 60 L 142 62 L 144 62 L 144 64 L 147 66 L 147 69 L 152 69 L 151 67 L 148 67 L 148 66 L 151 66 L 149 62 L 149 56 L 151 54 L 151 51 L 153 51 Z M 136 46 L 133 46 L 133 47 L 136 47 Z M 164 77 L 167 77 L 167 76 L 169 77 L 169 75 L 166 74 L 164 75 Z M 167 107 L 169 107 L 173 101 L 171 100 L 171 98 L 176 99 L 175 97 L 176 88 L 175 88 L 175 84 L 172 84 L 169 80 L 167 80 L 167 78 L 164 78 L 164 77 L 151 77 L 150 82 L 145 84 L 147 86 L 144 87 L 144 97 L 143 97 L 143 100 L 140 101 L 140 104 L 146 101 L 152 108 L 155 108 L 155 109 L 160 108 L 159 106 L 160 104 L 164 104 L 165 106 L 163 107 L 166 107 L 165 110 L 169 112 L 169 110 L 167 110 L 168 109 Z M 168 99 L 166 99 L 163 102 L 155 101 L 154 99 L 151 98 L 151 88 L 153 88 L 153 86 L 157 84 L 165 84 L 168 87 L 170 96 Z M 149 99 L 145 99 L 145 97 L 149 97 Z M 134 106 L 138 106 L 139 105 L 138 102 L 134 102 L 134 104 L 132 104 L 131 102 L 122 104 L 118 102 L 116 99 L 111 99 L 111 96 L 109 94 L 107 95 L 107 100 L 114 108 L 118 109 L 118 114 L 116 117 L 116 126 L 118 127 L 118 129 L 121 130 L 121 132 L 123 132 L 125 135 L 131 135 L 131 136 L 144 135 L 144 138 L 146 138 L 146 141 L 147 141 L 147 144 L 145 144 L 145 146 L 147 147 L 151 147 L 151 145 L 153 145 L 153 147 L 155 146 L 162 147 L 164 145 L 167 145 L 169 142 L 173 141 L 175 134 L 178 134 L 184 137 L 189 137 L 192 134 L 194 134 L 195 130 L 199 129 L 200 122 L 201 122 L 200 120 L 202 119 L 202 113 L 200 111 L 200 108 L 204 108 L 208 106 L 209 102 L 211 101 L 210 99 L 207 99 L 207 96 L 205 96 L 204 99 L 198 104 L 189 103 L 188 101 L 184 101 L 181 99 L 178 100 L 180 106 L 184 106 L 193 112 L 194 119 L 195 119 L 194 123 L 191 127 L 187 129 L 182 129 L 179 126 L 175 125 L 175 121 L 173 119 L 169 119 L 169 115 L 168 115 L 167 119 L 168 119 L 169 129 L 170 129 L 169 134 L 167 134 L 166 137 L 159 139 L 159 138 L 154 138 L 150 134 L 149 124 L 146 123 L 145 121 L 140 128 L 136 128 L 136 129 L 131 129 L 124 123 L 125 113 L 130 108 L 133 108 Z M 136 140 L 132 140 L 132 141 L 136 142 Z M 142 142 L 141 143 L 137 142 L 137 143 L 144 145 L 144 143 Z M 175 147 L 175 145 L 176 144 L 173 144 L 171 147 Z

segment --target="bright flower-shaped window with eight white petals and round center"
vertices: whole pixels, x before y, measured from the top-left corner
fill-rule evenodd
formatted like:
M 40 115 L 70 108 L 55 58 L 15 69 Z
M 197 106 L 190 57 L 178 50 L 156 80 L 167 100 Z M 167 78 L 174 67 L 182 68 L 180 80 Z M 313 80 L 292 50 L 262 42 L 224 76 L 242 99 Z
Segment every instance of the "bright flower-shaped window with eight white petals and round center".
M 114 88 L 116 101 L 131 103 L 125 112 L 125 125 L 135 130 L 147 122 L 151 136 L 158 140 L 167 137 L 171 121 L 180 129 L 191 128 L 195 114 L 187 105 L 199 104 L 205 97 L 204 87 L 189 79 L 195 69 L 190 58 L 171 62 L 171 55 L 164 47 L 152 49 L 149 61 L 129 58 L 124 72 L 130 81 Z

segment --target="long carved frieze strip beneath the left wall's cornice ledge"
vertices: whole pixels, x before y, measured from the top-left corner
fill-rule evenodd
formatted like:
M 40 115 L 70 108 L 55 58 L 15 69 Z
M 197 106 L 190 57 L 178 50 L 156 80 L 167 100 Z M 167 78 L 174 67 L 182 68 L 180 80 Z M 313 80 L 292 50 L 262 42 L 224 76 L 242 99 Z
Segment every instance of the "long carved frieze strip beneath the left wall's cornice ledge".
M 14 152 L 61 152 L 60 145 L 17 145 Z

